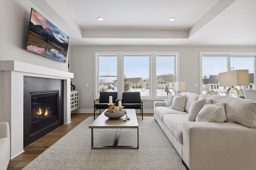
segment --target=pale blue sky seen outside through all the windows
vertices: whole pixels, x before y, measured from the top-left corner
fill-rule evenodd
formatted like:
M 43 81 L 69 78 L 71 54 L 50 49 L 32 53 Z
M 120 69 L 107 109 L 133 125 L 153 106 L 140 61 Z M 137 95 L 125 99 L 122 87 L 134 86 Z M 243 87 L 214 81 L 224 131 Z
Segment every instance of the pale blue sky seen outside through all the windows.
M 117 57 L 100 57 L 99 75 L 116 76 Z M 227 70 L 226 57 L 203 57 L 202 76 L 218 75 Z M 254 72 L 253 57 L 230 57 L 230 67 L 234 70 L 248 69 L 249 73 Z M 158 56 L 156 58 L 156 75 L 174 74 L 174 57 Z M 149 58 L 148 57 L 124 57 L 124 75 L 126 78 L 149 77 Z M 108 82 L 116 80 L 116 77 L 107 78 Z

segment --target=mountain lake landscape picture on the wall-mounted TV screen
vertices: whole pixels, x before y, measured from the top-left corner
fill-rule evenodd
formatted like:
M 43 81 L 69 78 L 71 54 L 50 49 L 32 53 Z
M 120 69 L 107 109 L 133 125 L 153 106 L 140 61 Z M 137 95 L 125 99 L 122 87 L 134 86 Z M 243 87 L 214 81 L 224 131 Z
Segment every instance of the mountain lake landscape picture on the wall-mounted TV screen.
M 33 8 L 31 9 L 26 49 L 66 63 L 69 37 Z

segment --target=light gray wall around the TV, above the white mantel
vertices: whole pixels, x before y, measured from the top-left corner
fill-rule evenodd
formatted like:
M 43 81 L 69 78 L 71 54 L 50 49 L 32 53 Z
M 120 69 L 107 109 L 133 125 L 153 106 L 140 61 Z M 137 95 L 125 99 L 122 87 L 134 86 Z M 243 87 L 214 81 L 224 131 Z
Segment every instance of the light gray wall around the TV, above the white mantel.
M 55 24 L 54 21 L 38 10 L 29 0 L 0 1 L 0 60 L 16 60 L 68 71 L 68 62 L 61 63 L 26 51 L 31 8 L 34 8 L 42 16 Z M 56 26 L 65 32 L 65 28 Z

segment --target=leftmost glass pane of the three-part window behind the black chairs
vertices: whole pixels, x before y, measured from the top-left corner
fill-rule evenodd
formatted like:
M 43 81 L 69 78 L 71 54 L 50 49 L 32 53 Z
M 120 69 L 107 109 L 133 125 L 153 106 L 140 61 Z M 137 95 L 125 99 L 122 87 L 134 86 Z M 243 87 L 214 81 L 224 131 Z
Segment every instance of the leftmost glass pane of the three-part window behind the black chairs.
M 100 92 L 117 92 L 117 56 L 98 56 L 98 88 Z

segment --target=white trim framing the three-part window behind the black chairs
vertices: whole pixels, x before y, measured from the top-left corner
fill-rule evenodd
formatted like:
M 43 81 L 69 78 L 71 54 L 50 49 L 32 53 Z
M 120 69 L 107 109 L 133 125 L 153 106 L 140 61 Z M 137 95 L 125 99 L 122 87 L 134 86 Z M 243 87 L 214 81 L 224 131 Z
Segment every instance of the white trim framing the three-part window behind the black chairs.
M 122 92 L 124 88 L 124 62 L 123 62 L 123 56 L 125 55 L 150 55 L 150 96 L 148 97 L 142 97 L 143 100 L 159 100 L 163 99 L 166 97 L 156 97 L 156 56 L 161 56 L 161 55 L 174 55 L 175 56 L 175 65 L 174 65 L 174 74 L 176 74 L 176 81 L 180 80 L 180 53 L 179 52 L 151 52 L 151 51 L 146 51 L 146 52 L 94 52 L 94 66 L 96 67 L 94 69 L 94 100 L 97 98 L 97 93 L 96 90 L 98 88 L 98 56 L 118 56 L 117 57 L 117 88 L 118 88 L 118 98 L 122 98 Z M 122 66 L 122 69 L 120 69 L 120 66 Z M 121 75 L 121 76 L 120 76 Z M 120 83 L 122 82 L 122 83 Z

